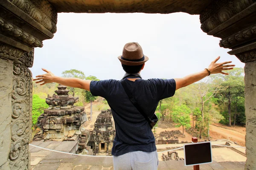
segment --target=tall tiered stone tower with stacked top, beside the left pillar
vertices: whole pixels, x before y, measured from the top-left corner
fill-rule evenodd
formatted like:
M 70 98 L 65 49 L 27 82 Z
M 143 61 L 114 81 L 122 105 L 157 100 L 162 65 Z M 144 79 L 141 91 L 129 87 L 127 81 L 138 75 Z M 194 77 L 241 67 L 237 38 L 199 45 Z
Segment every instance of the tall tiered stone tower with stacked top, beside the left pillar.
M 58 85 L 57 88 L 57 95 L 46 99 L 49 108 L 38 117 L 37 126 L 41 131 L 33 140 L 79 141 L 80 126 L 87 121 L 84 107 L 73 105 L 78 97 L 69 96 L 67 86 Z

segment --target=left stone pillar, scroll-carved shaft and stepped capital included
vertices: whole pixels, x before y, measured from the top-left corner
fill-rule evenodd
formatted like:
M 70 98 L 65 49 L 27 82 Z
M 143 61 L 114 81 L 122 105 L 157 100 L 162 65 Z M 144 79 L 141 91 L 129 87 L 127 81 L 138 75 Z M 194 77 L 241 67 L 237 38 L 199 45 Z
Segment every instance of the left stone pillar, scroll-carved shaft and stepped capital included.
M 30 170 L 34 48 L 53 37 L 47 0 L 0 0 L 0 170 Z

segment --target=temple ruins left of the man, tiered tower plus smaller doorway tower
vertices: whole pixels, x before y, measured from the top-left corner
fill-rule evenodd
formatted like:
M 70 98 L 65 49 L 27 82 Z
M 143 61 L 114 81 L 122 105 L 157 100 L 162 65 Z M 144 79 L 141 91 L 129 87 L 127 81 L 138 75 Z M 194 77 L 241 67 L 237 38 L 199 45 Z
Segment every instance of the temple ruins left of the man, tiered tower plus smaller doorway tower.
M 111 110 L 101 111 L 93 130 L 86 130 L 82 127 L 87 121 L 84 107 L 74 106 L 79 98 L 69 96 L 67 86 L 58 85 L 57 88 L 56 94 L 46 98 L 49 108 L 38 117 L 36 125 L 40 131 L 33 141 L 76 141 L 77 153 L 111 156 L 115 137 Z

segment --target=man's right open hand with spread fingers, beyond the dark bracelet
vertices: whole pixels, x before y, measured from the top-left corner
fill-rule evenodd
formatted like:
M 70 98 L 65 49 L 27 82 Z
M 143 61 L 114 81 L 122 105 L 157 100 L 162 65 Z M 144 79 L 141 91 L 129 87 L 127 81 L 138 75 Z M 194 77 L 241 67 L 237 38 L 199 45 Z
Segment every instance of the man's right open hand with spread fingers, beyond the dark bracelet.
M 228 75 L 228 73 L 224 73 L 225 70 L 232 70 L 235 65 L 227 65 L 228 63 L 231 63 L 232 61 L 227 62 L 221 62 L 216 63 L 221 57 L 217 57 L 214 61 L 211 62 L 211 64 L 208 67 L 208 70 L 211 72 L 211 74 L 225 74 Z

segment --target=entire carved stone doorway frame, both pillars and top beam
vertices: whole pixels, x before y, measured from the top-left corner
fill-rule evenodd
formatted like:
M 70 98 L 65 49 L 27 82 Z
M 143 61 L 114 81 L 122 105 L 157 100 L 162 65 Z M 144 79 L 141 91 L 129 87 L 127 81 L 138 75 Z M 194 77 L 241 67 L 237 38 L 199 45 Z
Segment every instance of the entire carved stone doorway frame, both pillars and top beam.
M 256 169 L 256 0 L 1 0 L 0 169 L 30 169 L 33 48 L 56 32 L 57 12 L 186 12 L 245 62 L 246 169 Z M 71 34 L 71 33 L 70 33 Z

